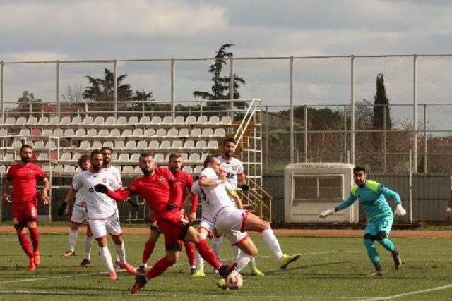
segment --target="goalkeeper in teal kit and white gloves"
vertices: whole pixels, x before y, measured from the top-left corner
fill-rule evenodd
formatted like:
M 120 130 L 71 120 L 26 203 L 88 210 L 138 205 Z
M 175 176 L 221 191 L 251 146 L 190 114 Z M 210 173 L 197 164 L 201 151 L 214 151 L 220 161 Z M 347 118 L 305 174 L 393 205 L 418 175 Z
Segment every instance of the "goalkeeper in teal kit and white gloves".
M 326 216 L 330 214 L 343 210 L 351 206 L 358 199 L 367 215 L 367 226 L 364 230 L 364 245 L 366 246 L 367 255 L 369 256 L 370 261 L 375 266 L 375 271 L 371 271 L 367 275 L 383 275 L 380 257 L 374 246 L 375 240 L 386 250 L 391 252 L 396 270 L 400 269 L 400 266 L 402 266 L 402 259 L 400 259 L 400 254 L 396 250 L 393 242 L 389 239 L 389 232 L 393 226 L 394 214 L 406 214 L 405 209 L 402 207 L 400 196 L 397 192 L 384 187 L 380 183 L 367 180 L 366 168 L 362 166 L 353 168 L 353 178 L 355 178 L 356 185 L 352 187 L 347 199 L 333 209 L 323 211 L 320 214 L 320 217 L 326 218 Z M 393 199 L 397 204 L 394 214 L 386 201 L 386 197 Z

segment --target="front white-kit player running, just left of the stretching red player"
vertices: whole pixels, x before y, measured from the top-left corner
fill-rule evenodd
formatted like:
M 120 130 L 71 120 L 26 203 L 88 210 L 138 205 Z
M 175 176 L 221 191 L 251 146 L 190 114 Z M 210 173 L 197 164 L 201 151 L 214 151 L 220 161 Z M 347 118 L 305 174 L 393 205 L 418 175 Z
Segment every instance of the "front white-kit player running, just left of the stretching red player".
M 94 187 L 102 183 L 112 190 L 120 190 L 121 185 L 112 173 L 102 168 L 102 152 L 94 149 L 90 154 L 91 167 L 88 171 L 78 173 L 73 178 L 72 188 L 74 191 L 81 190 L 88 209 L 88 223 L 97 244 L 99 245 L 100 257 L 109 271 L 109 278 L 117 280 L 118 276 L 112 264 L 112 255 L 107 247 L 107 233 L 112 237 L 114 248 L 119 255 L 119 266 L 126 269 L 129 274 L 136 274 L 136 269 L 126 262 L 126 250 L 124 247 L 123 233 L 119 219 L 117 219 L 117 206 L 115 201 L 107 195 L 95 191 Z

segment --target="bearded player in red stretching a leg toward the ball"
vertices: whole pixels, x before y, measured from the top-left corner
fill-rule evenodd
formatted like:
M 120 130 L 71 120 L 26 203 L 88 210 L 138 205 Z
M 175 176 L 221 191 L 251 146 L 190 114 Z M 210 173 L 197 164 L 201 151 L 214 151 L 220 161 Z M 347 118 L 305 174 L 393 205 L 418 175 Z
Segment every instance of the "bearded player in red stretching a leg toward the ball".
M 106 193 L 109 197 L 121 201 L 133 194 L 144 197 L 157 219 L 157 225 L 165 235 L 166 255 L 159 259 L 145 274 L 138 274 L 131 288 L 131 293 L 138 293 L 148 280 L 160 276 L 169 266 L 177 262 L 182 247 L 182 240 L 194 242 L 201 256 L 218 269 L 223 278 L 234 270 L 235 265 L 223 265 L 215 257 L 206 240 L 193 228 L 189 221 L 181 218 L 178 204 L 182 202 L 182 189 L 168 168 L 156 168 L 153 154 L 141 154 L 139 164 L 144 176 L 133 180 L 124 190 L 113 191 L 105 185 L 96 185 L 95 190 Z

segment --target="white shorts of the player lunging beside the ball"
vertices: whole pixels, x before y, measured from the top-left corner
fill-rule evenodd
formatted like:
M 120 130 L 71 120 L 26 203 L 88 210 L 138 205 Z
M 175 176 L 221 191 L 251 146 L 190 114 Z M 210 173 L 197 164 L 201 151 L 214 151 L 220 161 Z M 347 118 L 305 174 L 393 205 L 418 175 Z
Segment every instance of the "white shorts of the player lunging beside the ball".
M 249 237 L 248 233 L 242 229 L 246 216 L 248 216 L 248 211 L 246 210 L 227 207 L 218 212 L 214 226 L 231 242 L 231 245 L 237 245 Z

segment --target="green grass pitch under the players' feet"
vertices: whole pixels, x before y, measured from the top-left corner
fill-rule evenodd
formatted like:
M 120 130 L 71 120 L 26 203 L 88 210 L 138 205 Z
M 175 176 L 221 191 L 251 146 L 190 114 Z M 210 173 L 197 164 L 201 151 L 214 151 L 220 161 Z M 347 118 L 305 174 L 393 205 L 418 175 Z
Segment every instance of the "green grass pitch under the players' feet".
M 107 274 L 101 274 L 105 269 L 97 256 L 97 247 L 93 247 L 93 264 L 89 268 L 75 267 L 82 259 L 82 235 L 78 237 L 78 256 L 71 258 L 61 256 L 66 250 L 67 235 L 42 235 L 41 238 L 42 264 L 30 273 L 25 269 L 28 260 L 16 235 L 0 235 L 0 300 L 31 300 L 36 297 L 45 300 L 356 300 L 452 283 L 451 240 L 396 238 L 394 242 L 404 261 L 400 271 L 394 271 L 390 254 L 378 246 L 386 273 L 383 277 L 367 278 L 364 274 L 371 270 L 371 264 L 360 238 L 280 238 L 285 252 L 306 253 L 286 271 L 281 271 L 261 238 L 255 237 L 253 239 L 260 251 L 256 262 L 266 276 L 251 277 L 247 275 L 248 269 L 244 270 L 241 290 L 218 290 L 208 266 L 206 278 L 189 277 L 186 257 L 182 253 L 176 266 L 148 283 L 140 295 L 131 296 L 128 289 L 133 276 L 120 272 L 118 281 L 109 281 Z M 141 259 L 145 239 L 144 235 L 126 236 L 127 258 L 131 264 L 138 264 Z M 160 240 L 150 262 L 155 262 L 163 252 Z M 230 257 L 230 253 L 230 247 L 224 243 L 224 257 Z M 35 280 L 23 281 L 25 279 Z M 448 288 L 407 295 L 398 300 L 450 300 L 451 295 L 452 288 Z

